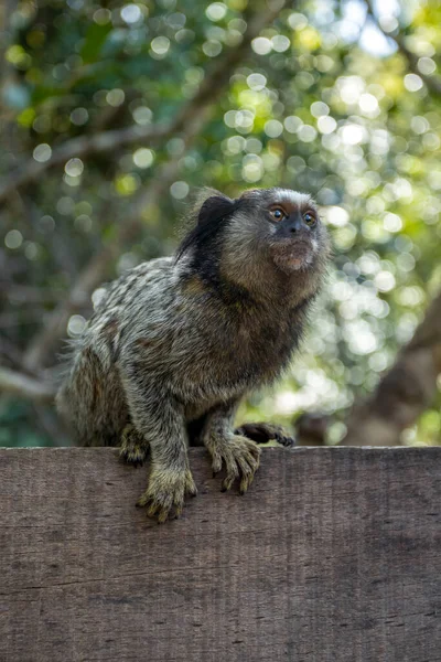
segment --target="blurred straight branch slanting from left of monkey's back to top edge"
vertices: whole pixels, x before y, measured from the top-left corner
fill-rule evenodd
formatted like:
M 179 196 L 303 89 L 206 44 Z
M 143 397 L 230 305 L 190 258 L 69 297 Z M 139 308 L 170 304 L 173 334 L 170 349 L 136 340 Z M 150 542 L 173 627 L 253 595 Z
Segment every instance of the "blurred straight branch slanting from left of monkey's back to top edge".
M 173 120 L 173 131 L 168 131 L 171 137 L 180 132 L 187 149 L 201 135 L 204 125 L 215 106 L 217 99 L 224 93 L 234 67 L 246 56 L 251 41 L 278 15 L 284 7 L 287 0 L 276 0 L 268 2 L 267 7 L 259 11 L 260 3 L 254 3 L 255 13 L 246 17 L 248 21 L 247 30 L 244 33 L 241 42 L 234 49 L 229 49 L 217 64 L 211 70 L 202 83 L 197 94 L 184 106 Z M 106 132 L 108 134 L 108 132 Z M 162 139 L 164 135 L 162 136 Z M 112 259 L 120 253 L 123 246 L 133 235 L 140 232 L 142 215 L 147 215 L 149 210 L 160 203 L 162 195 L 169 188 L 171 181 L 179 171 L 179 161 L 181 157 L 172 157 L 159 169 L 155 178 L 150 184 L 133 197 L 129 215 L 125 217 L 122 224 L 118 226 L 116 236 L 107 242 L 93 256 L 82 274 L 78 276 L 67 300 L 61 303 L 51 314 L 45 328 L 31 342 L 24 359 L 23 365 L 30 370 L 39 370 L 56 342 L 65 334 L 66 323 L 71 314 L 89 301 L 94 289 L 103 282 L 109 269 Z

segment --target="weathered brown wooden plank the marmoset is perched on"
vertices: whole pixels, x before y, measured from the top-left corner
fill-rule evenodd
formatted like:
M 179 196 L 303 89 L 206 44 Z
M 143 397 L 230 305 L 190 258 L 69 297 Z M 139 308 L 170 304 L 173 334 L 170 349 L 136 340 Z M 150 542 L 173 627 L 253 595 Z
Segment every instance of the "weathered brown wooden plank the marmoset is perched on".
M 441 448 L 266 449 L 158 526 L 112 449 L 0 450 L 1 662 L 439 662 Z

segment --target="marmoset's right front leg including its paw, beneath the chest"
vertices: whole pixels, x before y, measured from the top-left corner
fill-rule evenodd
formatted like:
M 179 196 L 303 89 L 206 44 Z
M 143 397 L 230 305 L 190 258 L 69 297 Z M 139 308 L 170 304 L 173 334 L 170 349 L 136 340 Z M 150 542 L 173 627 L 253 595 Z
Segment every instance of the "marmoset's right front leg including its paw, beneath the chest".
M 213 460 L 213 471 L 220 471 L 223 463 L 226 478 L 223 491 L 229 490 L 240 479 L 239 491 L 244 494 L 252 482 L 259 467 L 260 448 L 241 435 L 233 431 L 237 403 L 218 407 L 207 414 L 203 441 Z

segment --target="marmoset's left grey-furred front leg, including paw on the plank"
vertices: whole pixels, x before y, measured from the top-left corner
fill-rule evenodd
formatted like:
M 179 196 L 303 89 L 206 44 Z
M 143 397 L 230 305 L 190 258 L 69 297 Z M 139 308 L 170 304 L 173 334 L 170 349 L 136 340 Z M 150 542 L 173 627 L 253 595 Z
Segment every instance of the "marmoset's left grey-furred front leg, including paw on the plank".
M 183 408 L 159 388 L 141 391 L 139 383 L 127 384 L 126 393 L 132 425 L 144 440 L 142 448 L 150 445 L 151 450 L 149 484 L 137 505 L 165 522 L 181 514 L 187 494 L 197 493 L 189 466 Z

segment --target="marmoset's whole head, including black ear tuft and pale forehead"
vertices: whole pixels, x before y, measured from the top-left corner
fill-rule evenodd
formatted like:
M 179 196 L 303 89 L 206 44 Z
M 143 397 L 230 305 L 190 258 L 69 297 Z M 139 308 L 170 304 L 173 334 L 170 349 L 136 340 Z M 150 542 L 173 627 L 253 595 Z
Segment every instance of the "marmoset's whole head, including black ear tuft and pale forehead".
M 324 271 L 327 232 L 310 195 L 256 189 L 232 200 L 211 193 L 197 205 L 196 226 L 181 244 L 178 259 L 191 252 L 195 266 L 244 287 L 265 278 L 294 278 L 300 285 Z

